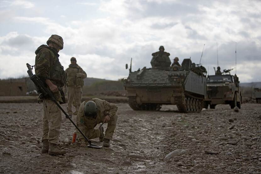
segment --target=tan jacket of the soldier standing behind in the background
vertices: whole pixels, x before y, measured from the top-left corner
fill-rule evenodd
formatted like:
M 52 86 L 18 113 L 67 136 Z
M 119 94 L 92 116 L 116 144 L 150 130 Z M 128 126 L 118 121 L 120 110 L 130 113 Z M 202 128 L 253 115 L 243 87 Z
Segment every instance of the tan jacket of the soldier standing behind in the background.
M 68 87 L 82 87 L 84 85 L 83 79 L 87 77 L 87 74 L 79 65 L 70 64 L 65 72 L 68 75 L 66 81 Z M 77 73 L 81 73 L 82 77 L 76 77 Z

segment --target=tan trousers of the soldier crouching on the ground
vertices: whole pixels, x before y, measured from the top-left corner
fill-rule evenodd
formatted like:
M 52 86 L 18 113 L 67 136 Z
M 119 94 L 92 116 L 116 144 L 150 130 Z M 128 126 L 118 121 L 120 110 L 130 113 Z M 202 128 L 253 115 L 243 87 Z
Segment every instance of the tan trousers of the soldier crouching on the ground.
M 108 125 L 107 125 L 107 129 L 105 131 L 104 138 L 112 140 L 112 136 L 113 136 L 114 130 L 116 128 L 117 120 L 118 120 L 118 115 L 115 114 L 111 117 L 110 121 L 108 121 Z M 80 133 L 80 132 L 78 132 L 78 133 Z M 86 132 L 84 132 L 84 133 L 85 133 L 85 136 L 88 139 L 99 138 L 101 136 L 101 132 L 100 132 L 99 129 L 93 129 L 93 128 L 92 129 L 86 129 Z

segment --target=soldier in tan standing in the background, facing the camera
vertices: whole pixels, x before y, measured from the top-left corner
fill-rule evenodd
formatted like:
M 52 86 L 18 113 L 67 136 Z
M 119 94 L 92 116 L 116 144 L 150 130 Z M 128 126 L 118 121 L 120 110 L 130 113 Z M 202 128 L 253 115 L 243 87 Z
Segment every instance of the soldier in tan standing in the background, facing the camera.
M 67 86 L 68 86 L 68 107 L 67 112 L 70 118 L 73 115 L 77 115 L 79 107 L 81 105 L 81 97 L 82 97 L 82 86 L 83 79 L 87 77 L 86 72 L 82 70 L 82 68 L 76 64 L 75 57 L 71 58 L 71 64 L 69 68 L 65 70 L 68 74 L 67 78 Z M 75 112 L 72 113 L 72 102 L 75 101 Z

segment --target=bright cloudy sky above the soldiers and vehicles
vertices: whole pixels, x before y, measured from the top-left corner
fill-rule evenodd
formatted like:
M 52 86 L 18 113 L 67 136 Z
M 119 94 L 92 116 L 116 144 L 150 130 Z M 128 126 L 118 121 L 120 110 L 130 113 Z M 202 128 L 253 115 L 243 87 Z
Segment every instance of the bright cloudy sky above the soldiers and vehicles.
M 259 0 L 0 0 L 0 78 L 26 76 L 36 48 L 58 34 L 62 65 L 74 56 L 88 77 L 127 77 L 131 58 L 132 70 L 151 67 L 160 45 L 171 60 L 198 64 L 204 44 L 201 63 L 212 75 L 218 43 L 222 70 L 237 57 L 240 81 L 261 81 L 260 9 Z

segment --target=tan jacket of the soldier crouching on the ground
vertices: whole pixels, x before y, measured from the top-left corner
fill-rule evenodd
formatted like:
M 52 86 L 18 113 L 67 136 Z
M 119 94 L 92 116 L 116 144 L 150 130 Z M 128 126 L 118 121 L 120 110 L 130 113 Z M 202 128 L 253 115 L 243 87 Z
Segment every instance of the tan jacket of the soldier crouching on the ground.
M 93 101 L 97 104 L 98 107 L 98 113 L 96 119 L 88 119 L 84 115 L 84 106 L 88 101 Z M 118 107 L 116 104 L 108 103 L 105 100 L 101 100 L 99 98 L 90 98 L 84 102 L 82 102 L 79 112 L 77 114 L 76 118 L 76 124 L 80 128 L 82 132 L 85 133 L 85 135 L 89 134 L 93 130 L 93 128 L 99 124 L 102 123 L 104 120 L 104 117 L 106 115 L 109 115 L 109 117 L 112 117 L 116 114 L 118 110 Z M 81 133 L 77 130 L 77 135 L 79 137 L 80 142 L 85 142 L 85 138 L 81 135 Z

